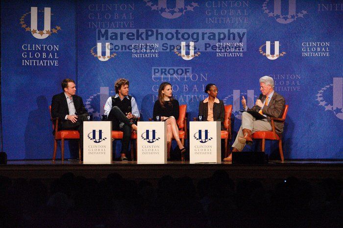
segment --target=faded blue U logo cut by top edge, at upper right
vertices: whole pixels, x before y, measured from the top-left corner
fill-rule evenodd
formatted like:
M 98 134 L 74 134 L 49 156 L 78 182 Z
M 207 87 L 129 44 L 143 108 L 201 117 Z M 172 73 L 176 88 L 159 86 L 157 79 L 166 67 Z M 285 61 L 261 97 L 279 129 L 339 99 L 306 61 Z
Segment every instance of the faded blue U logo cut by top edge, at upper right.
M 303 18 L 307 11 L 301 10 L 296 13 L 296 0 L 288 0 L 288 14 L 282 14 L 281 12 L 281 2 L 285 0 L 266 0 L 263 2 L 262 9 L 265 14 L 268 14 L 269 17 L 274 17 L 278 23 L 287 24 L 295 21 L 297 18 Z M 300 1 L 301 2 L 301 1 Z M 269 8 L 274 6 L 274 12 Z M 286 8 L 286 7 L 285 7 Z M 283 10 L 287 12 L 287 8 Z

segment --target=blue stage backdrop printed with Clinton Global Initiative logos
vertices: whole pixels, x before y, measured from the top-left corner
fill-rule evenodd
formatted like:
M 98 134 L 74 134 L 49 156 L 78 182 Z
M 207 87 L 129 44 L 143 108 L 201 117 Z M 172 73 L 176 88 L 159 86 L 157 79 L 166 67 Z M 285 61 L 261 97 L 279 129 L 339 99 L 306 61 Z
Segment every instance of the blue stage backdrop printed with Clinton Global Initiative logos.
M 51 158 L 48 106 L 64 78 L 97 117 L 127 78 L 143 120 L 161 82 L 189 119 L 215 83 L 233 105 L 235 137 L 241 96 L 252 106 L 269 75 L 290 106 L 285 158 L 342 159 L 342 14 L 340 0 L 1 0 L 3 150 L 13 160 Z M 277 144 L 267 151 L 277 155 Z

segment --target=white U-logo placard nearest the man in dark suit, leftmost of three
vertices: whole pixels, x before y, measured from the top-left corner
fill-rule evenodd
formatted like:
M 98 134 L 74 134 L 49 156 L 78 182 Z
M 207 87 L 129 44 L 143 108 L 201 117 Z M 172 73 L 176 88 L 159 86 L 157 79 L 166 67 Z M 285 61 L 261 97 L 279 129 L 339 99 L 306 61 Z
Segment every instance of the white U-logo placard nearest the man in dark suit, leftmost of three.
M 83 163 L 112 162 L 112 121 L 83 122 Z

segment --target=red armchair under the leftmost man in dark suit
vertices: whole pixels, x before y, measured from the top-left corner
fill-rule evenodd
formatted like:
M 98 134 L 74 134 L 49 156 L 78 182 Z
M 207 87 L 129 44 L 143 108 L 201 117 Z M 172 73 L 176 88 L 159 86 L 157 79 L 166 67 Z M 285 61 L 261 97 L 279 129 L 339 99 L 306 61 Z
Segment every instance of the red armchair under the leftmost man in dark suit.
M 49 106 L 50 117 L 51 117 L 51 105 Z M 75 130 L 58 130 L 58 117 L 52 118 L 52 129 L 54 130 L 54 143 L 53 143 L 53 157 L 52 160 L 56 159 L 57 141 L 61 140 L 61 159 L 64 161 L 64 139 L 78 139 L 78 160 L 81 160 L 81 145 L 80 145 L 80 134 Z

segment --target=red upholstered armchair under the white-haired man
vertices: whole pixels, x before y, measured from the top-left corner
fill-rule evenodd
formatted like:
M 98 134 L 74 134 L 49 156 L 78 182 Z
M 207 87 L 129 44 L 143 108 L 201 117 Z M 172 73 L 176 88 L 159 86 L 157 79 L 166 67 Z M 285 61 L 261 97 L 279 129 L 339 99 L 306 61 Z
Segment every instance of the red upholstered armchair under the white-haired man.
M 261 143 L 261 151 L 265 151 L 265 145 L 266 145 L 266 139 L 267 140 L 278 140 L 279 141 L 279 153 L 281 160 L 284 160 L 283 157 L 283 151 L 282 151 L 282 138 L 280 138 L 276 133 L 275 133 L 275 124 L 274 121 L 282 121 L 285 122 L 286 116 L 288 112 L 288 105 L 285 105 L 285 109 L 283 111 L 282 117 L 281 118 L 273 118 L 271 117 L 271 128 L 272 131 L 260 131 L 260 132 L 255 132 L 252 134 L 252 139 L 262 139 Z

